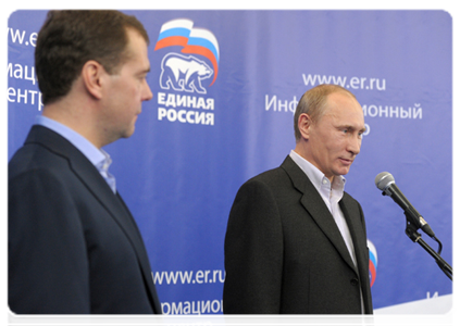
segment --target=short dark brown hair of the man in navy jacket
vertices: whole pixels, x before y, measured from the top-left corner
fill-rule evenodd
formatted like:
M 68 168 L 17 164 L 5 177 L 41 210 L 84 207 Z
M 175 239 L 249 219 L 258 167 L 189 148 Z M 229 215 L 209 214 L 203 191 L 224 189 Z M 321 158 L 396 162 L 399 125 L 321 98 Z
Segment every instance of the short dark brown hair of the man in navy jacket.
M 49 11 L 35 49 L 43 104 L 66 96 L 89 60 L 116 74 L 129 54 L 127 28 L 137 30 L 149 43 L 146 29 L 135 16 L 113 9 Z

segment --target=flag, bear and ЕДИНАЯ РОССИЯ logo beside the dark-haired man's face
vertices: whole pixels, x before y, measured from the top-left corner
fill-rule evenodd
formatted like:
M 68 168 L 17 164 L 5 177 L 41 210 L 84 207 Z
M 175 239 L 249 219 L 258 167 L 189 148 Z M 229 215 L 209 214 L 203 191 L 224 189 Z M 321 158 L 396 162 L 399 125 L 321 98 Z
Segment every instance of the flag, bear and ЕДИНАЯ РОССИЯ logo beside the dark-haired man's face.
M 167 52 L 165 50 L 169 50 Z M 158 93 L 160 121 L 214 125 L 214 99 L 207 97 L 219 74 L 219 42 L 208 29 L 187 18 L 161 26 L 154 51 L 161 61 Z M 161 52 L 161 51 L 160 51 Z M 196 96 L 195 96 L 196 95 Z

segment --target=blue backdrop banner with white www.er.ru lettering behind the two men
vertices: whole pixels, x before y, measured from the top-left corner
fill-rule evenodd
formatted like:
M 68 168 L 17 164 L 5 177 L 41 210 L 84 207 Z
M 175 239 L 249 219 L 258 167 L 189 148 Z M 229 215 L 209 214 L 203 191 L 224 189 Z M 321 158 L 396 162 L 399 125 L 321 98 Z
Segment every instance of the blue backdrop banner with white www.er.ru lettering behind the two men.
M 456 292 L 374 185 L 378 173 L 394 175 L 456 268 L 456 10 L 123 12 L 149 33 L 153 99 L 134 136 L 104 149 L 146 242 L 165 325 L 224 325 L 233 200 L 294 149 L 293 113 L 319 84 L 346 87 L 364 110 L 346 190 L 366 218 L 374 308 Z M 7 162 L 42 109 L 34 49 L 46 13 L 7 10 Z

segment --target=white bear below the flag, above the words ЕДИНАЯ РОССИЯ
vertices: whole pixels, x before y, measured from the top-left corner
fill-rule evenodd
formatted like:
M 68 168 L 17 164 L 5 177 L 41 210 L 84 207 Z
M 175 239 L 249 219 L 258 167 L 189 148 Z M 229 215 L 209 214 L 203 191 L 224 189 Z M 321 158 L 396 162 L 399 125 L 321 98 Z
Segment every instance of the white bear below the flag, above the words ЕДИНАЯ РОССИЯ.
M 208 64 L 195 57 L 167 53 L 161 62 L 160 87 L 206 93 L 201 80 L 211 77 L 213 73 Z

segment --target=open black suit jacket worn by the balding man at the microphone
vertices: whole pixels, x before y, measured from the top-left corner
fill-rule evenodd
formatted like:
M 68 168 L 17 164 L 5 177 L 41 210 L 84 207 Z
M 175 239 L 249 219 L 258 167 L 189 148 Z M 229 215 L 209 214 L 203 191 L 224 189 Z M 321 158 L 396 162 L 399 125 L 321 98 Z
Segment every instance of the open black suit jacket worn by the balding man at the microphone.
M 358 268 L 320 193 L 289 158 L 239 189 L 225 237 L 227 326 L 373 326 L 369 251 L 360 204 L 339 203 Z

